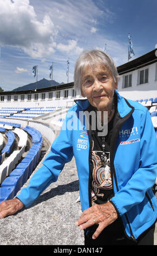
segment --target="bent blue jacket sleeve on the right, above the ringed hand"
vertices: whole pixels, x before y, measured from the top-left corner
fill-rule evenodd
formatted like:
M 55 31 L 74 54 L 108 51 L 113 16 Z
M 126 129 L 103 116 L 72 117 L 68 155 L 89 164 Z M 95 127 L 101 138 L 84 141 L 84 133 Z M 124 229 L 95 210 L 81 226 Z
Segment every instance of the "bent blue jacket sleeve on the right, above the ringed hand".
M 111 199 L 119 215 L 125 214 L 145 198 L 146 192 L 155 184 L 157 176 L 157 140 L 150 113 L 147 109 L 141 118 L 139 169 Z

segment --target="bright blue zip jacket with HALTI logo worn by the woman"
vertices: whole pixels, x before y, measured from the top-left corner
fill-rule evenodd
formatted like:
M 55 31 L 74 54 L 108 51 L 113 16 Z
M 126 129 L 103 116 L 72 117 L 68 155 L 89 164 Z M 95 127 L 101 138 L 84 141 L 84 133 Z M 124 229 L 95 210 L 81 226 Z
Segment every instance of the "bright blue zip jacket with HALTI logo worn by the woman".
M 152 186 L 157 176 L 157 140 L 149 111 L 138 102 L 125 100 L 117 93 L 119 119 L 110 142 L 110 169 L 114 196 L 111 202 L 122 218 L 127 236 L 136 239 L 156 221 L 157 199 Z M 89 184 L 90 132 L 82 110 L 88 100 L 78 100 L 67 113 L 60 135 L 51 151 L 17 196 L 28 207 L 55 182 L 64 167 L 75 156 L 80 184 L 82 211 L 91 206 Z

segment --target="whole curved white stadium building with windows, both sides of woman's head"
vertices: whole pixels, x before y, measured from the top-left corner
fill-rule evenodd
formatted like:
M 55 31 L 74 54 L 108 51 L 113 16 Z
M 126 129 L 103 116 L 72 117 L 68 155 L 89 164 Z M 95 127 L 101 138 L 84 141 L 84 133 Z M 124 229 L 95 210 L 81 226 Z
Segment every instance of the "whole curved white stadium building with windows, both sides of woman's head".
M 118 91 L 127 99 L 145 100 L 157 97 L 157 54 L 153 50 L 118 66 Z M 82 98 L 74 90 L 74 83 L 61 84 L 36 90 L 0 93 L 0 108 L 70 107 Z

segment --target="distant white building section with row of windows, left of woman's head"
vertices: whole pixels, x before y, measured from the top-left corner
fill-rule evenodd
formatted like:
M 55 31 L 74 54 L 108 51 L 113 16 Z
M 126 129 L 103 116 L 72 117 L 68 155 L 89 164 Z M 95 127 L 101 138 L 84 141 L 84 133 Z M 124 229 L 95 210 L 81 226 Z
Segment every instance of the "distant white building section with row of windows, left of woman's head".
M 0 108 L 69 107 L 73 106 L 80 93 L 74 90 L 74 83 L 58 86 L 0 93 Z

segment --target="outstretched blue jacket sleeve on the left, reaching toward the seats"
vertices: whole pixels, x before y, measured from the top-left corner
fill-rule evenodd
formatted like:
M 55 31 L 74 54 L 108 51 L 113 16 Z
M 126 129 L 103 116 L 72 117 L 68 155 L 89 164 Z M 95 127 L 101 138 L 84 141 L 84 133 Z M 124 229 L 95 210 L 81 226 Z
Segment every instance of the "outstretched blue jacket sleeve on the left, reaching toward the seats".
M 51 151 L 43 161 L 43 166 L 32 176 L 29 186 L 22 188 L 16 196 L 25 207 L 30 206 L 51 182 L 57 180 L 64 164 L 73 158 L 72 132 L 66 129 L 68 119 L 64 120 L 60 135 L 51 145 Z

